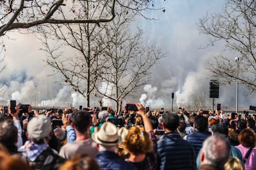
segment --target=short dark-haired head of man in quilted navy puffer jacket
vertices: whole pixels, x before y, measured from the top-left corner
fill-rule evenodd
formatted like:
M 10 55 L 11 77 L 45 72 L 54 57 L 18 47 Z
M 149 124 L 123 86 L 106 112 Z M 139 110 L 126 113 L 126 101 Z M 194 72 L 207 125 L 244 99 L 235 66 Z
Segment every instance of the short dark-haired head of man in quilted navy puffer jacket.
M 163 126 L 169 131 L 176 131 L 179 126 L 179 116 L 166 111 L 166 114 L 163 115 Z

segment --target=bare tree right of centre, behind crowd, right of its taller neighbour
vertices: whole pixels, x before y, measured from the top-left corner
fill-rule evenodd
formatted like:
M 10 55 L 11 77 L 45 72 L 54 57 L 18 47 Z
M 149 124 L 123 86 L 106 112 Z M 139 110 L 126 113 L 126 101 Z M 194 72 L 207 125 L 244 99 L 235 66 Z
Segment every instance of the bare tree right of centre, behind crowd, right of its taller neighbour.
M 142 30 L 138 28 L 136 33 L 131 33 L 129 26 L 134 16 L 125 15 L 127 11 L 122 8 L 113 22 L 105 25 L 99 41 L 105 48 L 101 57 L 104 67 L 101 67 L 98 76 L 107 85 L 105 89 L 100 86 L 96 89 L 101 95 L 113 100 L 116 109 L 119 99 L 134 94 L 150 81 L 150 69 L 165 56 L 160 48 L 143 46 Z

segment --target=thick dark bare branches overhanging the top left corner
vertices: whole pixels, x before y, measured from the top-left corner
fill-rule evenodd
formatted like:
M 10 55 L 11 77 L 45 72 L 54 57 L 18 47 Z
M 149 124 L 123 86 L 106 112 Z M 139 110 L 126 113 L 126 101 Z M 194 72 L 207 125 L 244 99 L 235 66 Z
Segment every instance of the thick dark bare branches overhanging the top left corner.
M 84 4 L 90 3 L 90 6 Z M 153 0 L 131 0 L 132 4 L 126 0 L 103 0 L 103 1 L 45 1 L 45 0 L 4 0 L 0 1 L 0 36 L 7 31 L 30 28 L 38 25 L 64 24 L 64 23 L 105 23 L 110 22 L 115 17 L 115 6 L 127 7 L 133 12 L 143 15 L 142 11 L 151 9 Z M 100 4 L 100 6 L 98 6 Z M 98 8 L 96 8 L 98 7 Z M 105 13 L 108 15 L 97 16 L 94 18 L 83 18 L 77 15 L 77 10 L 93 10 L 96 13 Z M 59 14 L 64 15 L 59 15 Z M 144 16 L 144 15 L 143 15 Z

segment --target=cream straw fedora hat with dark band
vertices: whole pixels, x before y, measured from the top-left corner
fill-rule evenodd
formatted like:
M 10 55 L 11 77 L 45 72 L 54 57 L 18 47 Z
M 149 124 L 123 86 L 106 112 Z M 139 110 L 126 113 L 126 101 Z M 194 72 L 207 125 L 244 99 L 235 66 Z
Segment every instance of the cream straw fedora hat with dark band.
M 100 131 L 92 134 L 92 139 L 100 145 L 117 145 L 121 142 L 117 128 L 113 123 L 106 122 L 100 127 Z

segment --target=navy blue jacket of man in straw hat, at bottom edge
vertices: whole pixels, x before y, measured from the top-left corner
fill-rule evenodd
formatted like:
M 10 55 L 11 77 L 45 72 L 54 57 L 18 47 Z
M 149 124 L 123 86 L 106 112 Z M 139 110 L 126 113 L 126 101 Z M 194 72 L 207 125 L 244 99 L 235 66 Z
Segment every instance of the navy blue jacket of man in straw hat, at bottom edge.
M 100 165 L 101 170 L 137 169 L 132 163 L 122 160 L 116 153 L 109 151 L 98 152 L 96 161 Z

